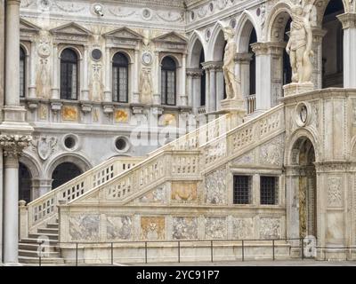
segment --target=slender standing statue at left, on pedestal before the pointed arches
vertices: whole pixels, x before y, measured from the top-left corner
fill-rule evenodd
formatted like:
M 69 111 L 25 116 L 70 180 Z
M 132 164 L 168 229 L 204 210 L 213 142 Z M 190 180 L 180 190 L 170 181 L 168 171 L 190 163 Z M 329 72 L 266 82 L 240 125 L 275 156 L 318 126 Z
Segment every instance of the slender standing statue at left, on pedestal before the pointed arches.
M 233 38 L 233 29 L 224 28 L 223 34 L 227 41 L 223 56 L 226 97 L 227 99 L 242 99 L 240 81 L 235 75 L 235 53 L 237 51 L 237 44 Z

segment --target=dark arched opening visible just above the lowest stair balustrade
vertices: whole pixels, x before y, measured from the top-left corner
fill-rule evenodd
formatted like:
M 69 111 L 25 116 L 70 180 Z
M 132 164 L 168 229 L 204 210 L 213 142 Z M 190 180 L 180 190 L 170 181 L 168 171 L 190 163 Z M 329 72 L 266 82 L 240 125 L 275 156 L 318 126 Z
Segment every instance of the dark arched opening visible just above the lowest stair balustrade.
M 80 176 L 82 173 L 82 170 L 80 170 L 76 164 L 72 162 L 62 162 L 53 170 L 52 189 L 64 185 L 65 183 L 69 182 L 69 180 Z

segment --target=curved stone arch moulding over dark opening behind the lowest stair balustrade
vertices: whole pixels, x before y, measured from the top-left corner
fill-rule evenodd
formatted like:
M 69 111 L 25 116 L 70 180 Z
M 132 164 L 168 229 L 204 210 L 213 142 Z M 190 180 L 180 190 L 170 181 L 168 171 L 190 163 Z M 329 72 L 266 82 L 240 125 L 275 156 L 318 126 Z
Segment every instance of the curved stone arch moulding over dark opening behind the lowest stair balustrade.
M 71 162 L 77 165 L 77 167 L 85 172 L 93 168 L 93 165 L 83 154 L 77 153 L 64 153 L 53 157 L 52 161 L 48 163 L 44 169 L 45 177 L 47 179 L 52 178 L 53 170 L 63 162 Z

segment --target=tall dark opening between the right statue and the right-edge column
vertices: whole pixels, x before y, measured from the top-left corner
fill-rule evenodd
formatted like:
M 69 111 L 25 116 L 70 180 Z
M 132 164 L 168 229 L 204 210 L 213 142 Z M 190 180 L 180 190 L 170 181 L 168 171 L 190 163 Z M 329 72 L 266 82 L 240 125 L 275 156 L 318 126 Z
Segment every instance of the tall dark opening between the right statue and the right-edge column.
M 322 28 L 322 87 L 344 87 L 344 29 L 336 16 L 344 13 L 342 0 L 331 0 L 326 7 Z

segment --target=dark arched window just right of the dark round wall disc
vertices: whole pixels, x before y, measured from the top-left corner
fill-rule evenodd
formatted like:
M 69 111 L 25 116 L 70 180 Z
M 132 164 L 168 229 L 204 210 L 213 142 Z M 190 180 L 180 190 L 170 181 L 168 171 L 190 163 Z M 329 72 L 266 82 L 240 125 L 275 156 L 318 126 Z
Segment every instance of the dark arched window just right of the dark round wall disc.
M 121 52 L 112 59 L 112 100 L 128 102 L 128 59 Z

